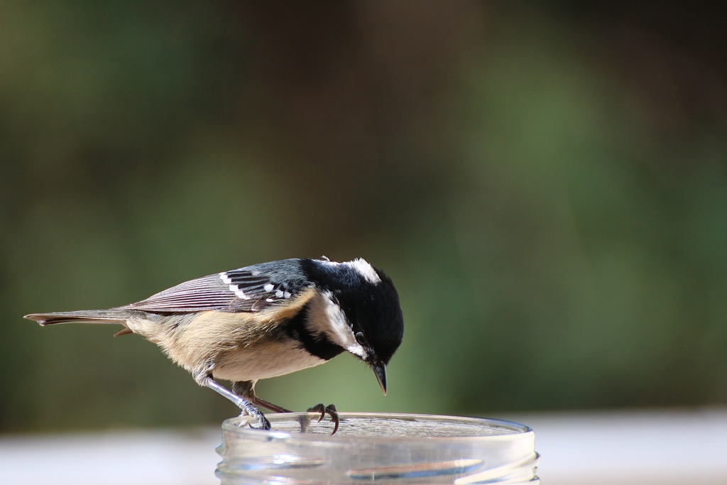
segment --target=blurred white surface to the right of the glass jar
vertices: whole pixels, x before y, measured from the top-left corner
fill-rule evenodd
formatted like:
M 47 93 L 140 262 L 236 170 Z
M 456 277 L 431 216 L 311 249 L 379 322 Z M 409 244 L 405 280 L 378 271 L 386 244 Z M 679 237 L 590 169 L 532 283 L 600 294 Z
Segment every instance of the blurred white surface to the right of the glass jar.
M 543 485 L 727 485 L 727 409 L 511 418 L 535 430 Z

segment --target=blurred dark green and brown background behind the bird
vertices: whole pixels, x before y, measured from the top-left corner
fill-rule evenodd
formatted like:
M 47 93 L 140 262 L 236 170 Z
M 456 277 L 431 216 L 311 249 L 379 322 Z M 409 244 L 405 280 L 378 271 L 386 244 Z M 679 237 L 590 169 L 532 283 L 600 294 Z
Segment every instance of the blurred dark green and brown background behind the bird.
M 0 1 L 0 431 L 234 406 L 108 308 L 365 257 L 406 334 L 292 409 L 727 404 L 727 18 L 706 2 Z

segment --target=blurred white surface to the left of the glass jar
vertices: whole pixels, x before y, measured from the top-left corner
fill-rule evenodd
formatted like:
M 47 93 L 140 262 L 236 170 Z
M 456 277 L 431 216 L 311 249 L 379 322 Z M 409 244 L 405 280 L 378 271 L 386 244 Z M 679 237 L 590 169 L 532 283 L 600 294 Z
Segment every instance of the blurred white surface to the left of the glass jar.
M 220 429 L 0 436 L 0 484 L 219 485 Z

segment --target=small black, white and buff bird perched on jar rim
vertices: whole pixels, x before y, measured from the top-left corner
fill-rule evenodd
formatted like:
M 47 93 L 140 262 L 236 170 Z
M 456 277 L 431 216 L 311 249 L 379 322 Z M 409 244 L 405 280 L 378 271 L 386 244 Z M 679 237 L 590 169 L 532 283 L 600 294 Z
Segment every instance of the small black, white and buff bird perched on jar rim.
M 403 337 L 393 282 L 361 258 L 262 262 L 186 281 L 130 305 L 25 318 L 41 325 L 124 325 L 117 336 L 140 334 L 156 343 L 199 385 L 254 417 L 260 429 L 270 429 L 270 422 L 254 405 L 289 411 L 258 398 L 258 380 L 324 364 L 347 351 L 371 366 L 386 394 L 386 366 Z M 233 382 L 232 390 L 218 379 Z M 320 420 L 329 414 L 333 433 L 338 430 L 333 404 L 308 411 L 320 412 Z

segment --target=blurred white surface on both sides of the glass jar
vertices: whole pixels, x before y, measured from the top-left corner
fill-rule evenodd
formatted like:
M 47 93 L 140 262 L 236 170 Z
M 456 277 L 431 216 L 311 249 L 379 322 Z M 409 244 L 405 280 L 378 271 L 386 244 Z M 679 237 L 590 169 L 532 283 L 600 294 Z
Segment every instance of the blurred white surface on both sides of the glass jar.
M 543 485 L 727 485 L 727 409 L 499 417 L 535 430 Z M 0 436 L 0 484 L 219 484 L 219 444 L 219 428 Z

